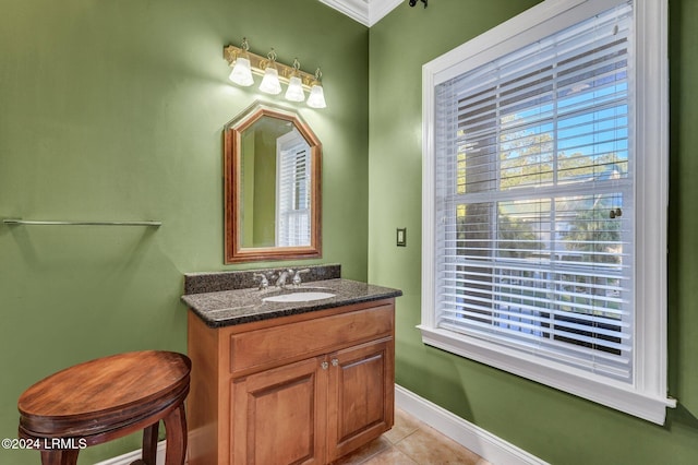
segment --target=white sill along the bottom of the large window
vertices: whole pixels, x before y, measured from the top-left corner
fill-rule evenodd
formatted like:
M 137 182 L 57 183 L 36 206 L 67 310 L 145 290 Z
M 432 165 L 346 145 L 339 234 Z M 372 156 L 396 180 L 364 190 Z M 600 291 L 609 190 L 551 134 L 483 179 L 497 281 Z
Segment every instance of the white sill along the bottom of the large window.
M 489 365 L 513 374 L 664 425 L 666 407 L 676 407 L 673 398 L 641 392 L 633 385 L 613 382 L 593 373 L 554 362 L 541 362 L 532 356 L 452 331 L 417 326 L 426 345 Z

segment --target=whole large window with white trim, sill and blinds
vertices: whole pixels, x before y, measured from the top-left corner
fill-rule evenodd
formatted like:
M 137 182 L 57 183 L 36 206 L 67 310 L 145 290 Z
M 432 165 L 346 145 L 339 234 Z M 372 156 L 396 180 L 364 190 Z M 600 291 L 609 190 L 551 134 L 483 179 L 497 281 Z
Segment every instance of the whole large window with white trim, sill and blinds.
M 666 24 L 544 0 L 424 64 L 424 344 L 664 422 Z

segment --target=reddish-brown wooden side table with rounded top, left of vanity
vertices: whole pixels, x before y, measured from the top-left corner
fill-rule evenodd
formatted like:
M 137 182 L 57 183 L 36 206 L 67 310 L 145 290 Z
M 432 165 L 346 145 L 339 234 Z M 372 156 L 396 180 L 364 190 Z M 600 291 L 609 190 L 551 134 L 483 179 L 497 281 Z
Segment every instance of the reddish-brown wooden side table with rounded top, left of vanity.
M 190 371 L 186 356 L 160 350 L 119 354 L 67 368 L 20 396 L 20 438 L 41 451 L 44 465 L 73 465 L 81 449 L 143 430 L 143 460 L 136 463 L 155 465 L 163 420 L 166 464 L 182 465 Z

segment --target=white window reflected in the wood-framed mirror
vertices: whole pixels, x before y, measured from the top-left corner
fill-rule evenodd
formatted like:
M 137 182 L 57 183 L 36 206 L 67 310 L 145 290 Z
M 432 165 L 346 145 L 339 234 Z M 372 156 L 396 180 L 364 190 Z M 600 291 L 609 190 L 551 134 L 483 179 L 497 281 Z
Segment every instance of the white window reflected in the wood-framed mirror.
M 310 246 L 310 150 L 293 131 L 277 142 L 277 246 Z

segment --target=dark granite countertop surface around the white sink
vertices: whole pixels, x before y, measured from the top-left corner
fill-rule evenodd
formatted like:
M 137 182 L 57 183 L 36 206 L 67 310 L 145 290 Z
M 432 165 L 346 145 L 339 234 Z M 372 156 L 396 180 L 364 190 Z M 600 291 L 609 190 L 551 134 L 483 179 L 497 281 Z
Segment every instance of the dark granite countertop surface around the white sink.
M 278 294 L 299 291 L 325 291 L 335 297 L 309 302 L 265 302 L 262 299 Z M 306 313 L 351 303 L 399 297 L 402 291 L 389 287 L 374 286 L 351 279 L 332 278 L 303 283 L 286 289 L 269 286 L 260 290 L 241 288 L 215 290 L 182 296 L 190 309 L 209 327 L 221 327 L 278 317 Z

